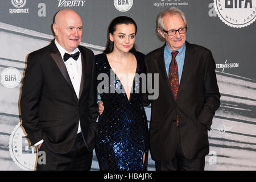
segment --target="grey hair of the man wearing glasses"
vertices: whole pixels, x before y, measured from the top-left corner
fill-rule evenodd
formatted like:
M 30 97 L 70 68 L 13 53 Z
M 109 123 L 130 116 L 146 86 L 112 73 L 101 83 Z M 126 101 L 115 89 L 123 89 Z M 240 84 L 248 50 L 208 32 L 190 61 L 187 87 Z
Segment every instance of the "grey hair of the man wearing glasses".
M 185 26 L 187 27 L 187 20 L 185 18 L 185 14 L 183 13 L 183 11 L 181 11 L 180 9 L 177 9 L 177 7 L 171 7 L 170 9 L 167 9 L 158 15 L 158 18 L 156 19 L 156 24 L 157 24 L 156 31 L 158 28 L 161 31 L 165 29 L 163 19 L 164 19 L 164 16 L 166 16 L 167 14 L 180 16 L 180 18 L 183 19 Z

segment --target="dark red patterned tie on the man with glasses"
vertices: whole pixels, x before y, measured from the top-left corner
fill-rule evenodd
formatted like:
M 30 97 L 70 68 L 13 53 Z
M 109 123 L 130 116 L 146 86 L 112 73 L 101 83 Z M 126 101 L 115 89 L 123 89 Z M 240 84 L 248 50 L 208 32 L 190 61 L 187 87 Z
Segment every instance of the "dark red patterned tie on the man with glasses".
M 172 61 L 169 65 L 169 76 L 168 76 L 168 80 L 170 82 L 172 93 L 174 94 L 175 100 L 177 99 L 177 92 L 179 90 L 179 71 L 178 71 L 177 62 L 175 59 L 175 57 L 177 56 L 177 53 L 179 53 L 179 51 L 172 52 Z M 179 126 L 178 115 L 177 115 L 177 126 Z

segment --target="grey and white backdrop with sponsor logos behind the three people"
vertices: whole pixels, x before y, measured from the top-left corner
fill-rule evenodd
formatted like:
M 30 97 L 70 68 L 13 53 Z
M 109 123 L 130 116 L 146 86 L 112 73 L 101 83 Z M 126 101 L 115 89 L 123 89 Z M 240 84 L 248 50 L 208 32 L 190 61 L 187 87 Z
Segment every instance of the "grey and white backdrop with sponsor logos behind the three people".
M 207 47 L 216 61 L 221 106 L 209 132 L 205 170 L 256 169 L 256 0 L 1 0 L 0 1 L 0 170 L 34 170 L 36 151 L 20 127 L 20 88 L 28 53 L 53 39 L 53 15 L 70 8 L 84 22 L 82 46 L 104 51 L 116 16 L 137 22 L 136 48 L 163 46 L 156 16 L 176 6 L 187 16 L 187 40 Z M 146 107 L 148 124 L 150 107 Z M 92 170 L 98 170 L 96 155 Z M 148 169 L 155 170 L 148 159 Z

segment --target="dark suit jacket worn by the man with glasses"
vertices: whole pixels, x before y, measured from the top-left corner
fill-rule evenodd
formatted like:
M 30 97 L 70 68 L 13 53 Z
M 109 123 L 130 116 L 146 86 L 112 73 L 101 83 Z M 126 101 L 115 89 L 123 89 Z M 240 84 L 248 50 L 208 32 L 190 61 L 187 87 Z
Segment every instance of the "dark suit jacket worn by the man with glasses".
M 186 158 L 203 158 L 209 152 L 207 129 L 220 106 L 216 65 L 207 48 L 185 44 L 176 101 L 164 65 L 164 47 L 148 53 L 145 58 L 147 72 L 159 74 L 159 97 L 151 100 L 150 147 L 154 160 L 170 161 L 174 157 L 177 130 Z M 153 82 L 153 88 L 154 85 Z M 145 105 L 149 103 L 145 101 Z M 176 115 L 179 116 L 179 127 L 176 126 Z

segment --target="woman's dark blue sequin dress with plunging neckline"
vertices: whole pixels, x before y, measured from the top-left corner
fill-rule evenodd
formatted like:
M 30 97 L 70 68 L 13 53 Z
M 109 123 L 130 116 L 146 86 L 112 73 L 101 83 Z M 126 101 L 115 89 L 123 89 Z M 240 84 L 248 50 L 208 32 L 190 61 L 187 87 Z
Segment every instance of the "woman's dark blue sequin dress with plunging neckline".
M 135 52 L 134 56 L 137 59 L 136 73 L 145 73 L 144 55 Z M 122 83 L 111 70 L 106 53 L 96 55 L 95 61 L 96 77 L 106 73 L 109 78 L 105 82 L 107 84 L 101 85 L 106 92 L 100 93 L 104 111 L 98 119 L 99 132 L 95 148 L 100 170 L 144 170 L 149 141 L 147 118 L 142 105 L 142 79 L 134 77 L 129 101 L 124 90 L 121 93 L 117 90 L 122 89 Z M 101 79 L 97 84 L 100 82 L 102 83 Z M 146 159 L 143 164 L 144 153 Z

